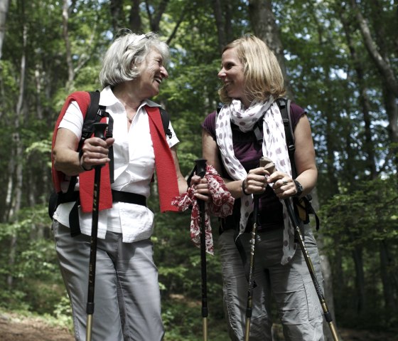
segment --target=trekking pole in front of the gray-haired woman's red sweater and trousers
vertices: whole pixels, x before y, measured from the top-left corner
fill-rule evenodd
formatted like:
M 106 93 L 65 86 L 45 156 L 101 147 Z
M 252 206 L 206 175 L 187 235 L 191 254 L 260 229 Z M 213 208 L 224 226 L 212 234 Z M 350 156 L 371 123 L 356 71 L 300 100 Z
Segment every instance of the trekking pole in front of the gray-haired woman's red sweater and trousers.
M 94 136 L 104 140 L 104 130 L 107 123 L 94 123 Z M 101 167 L 95 166 L 94 192 L 92 194 L 92 225 L 90 239 L 90 264 L 88 268 L 88 294 L 87 294 L 87 326 L 86 340 L 91 341 L 92 314 L 94 313 L 94 286 L 95 286 L 95 263 L 97 261 L 97 234 L 98 234 L 98 211 L 99 211 L 99 184 L 101 183 Z

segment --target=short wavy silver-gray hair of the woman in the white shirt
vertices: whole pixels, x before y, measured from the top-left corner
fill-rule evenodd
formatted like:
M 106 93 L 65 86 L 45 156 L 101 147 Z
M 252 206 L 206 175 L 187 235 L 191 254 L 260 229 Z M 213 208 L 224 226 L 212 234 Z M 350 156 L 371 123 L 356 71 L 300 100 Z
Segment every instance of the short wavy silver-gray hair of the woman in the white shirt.
M 138 78 L 140 71 L 136 66 L 143 63 L 153 49 L 161 54 L 163 63 L 168 61 L 168 46 L 158 39 L 156 33 L 138 35 L 124 29 L 124 34 L 117 37 L 105 53 L 99 73 L 102 87 Z

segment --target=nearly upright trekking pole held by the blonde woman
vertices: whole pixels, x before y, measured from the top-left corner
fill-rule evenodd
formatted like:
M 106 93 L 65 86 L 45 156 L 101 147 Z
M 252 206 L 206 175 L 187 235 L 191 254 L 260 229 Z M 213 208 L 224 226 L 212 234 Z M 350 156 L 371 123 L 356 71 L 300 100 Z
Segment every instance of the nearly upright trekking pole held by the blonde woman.
M 264 159 L 260 159 L 260 167 L 266 167 L 267 162 Z M 252 238 L 250 239 L 250 263 L 249 263 L 249 285 L 247 288 L 247 307 L 246 307 L 246 329 L 244 332 L 244 341 L 249 341 L 250 336 L 250 321 L 252 319 L 253 310 L 253 285 L 254 285 L 254 251 L 256 248 L 257 239 L 257 224 L 258 224 L 258 213 L 259 213 L 259 196 L 261 194 L 253 195 L 253 226 L 252 226 Z

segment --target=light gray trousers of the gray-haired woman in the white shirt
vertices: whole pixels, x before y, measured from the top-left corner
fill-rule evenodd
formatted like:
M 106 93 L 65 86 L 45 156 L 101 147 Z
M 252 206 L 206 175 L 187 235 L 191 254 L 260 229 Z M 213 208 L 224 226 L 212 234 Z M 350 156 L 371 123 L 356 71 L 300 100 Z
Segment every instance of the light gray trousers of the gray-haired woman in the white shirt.
M 71 237 L 70 229 L 53 221 L 60 271 L 72 305 L 77 341 L 86 340 L 90 236 Z M 123 243 L 107 232 L 97 239 L 95 308 L 92 341 L 160 341 L 164 330 L 158 271 L 149 239 Z

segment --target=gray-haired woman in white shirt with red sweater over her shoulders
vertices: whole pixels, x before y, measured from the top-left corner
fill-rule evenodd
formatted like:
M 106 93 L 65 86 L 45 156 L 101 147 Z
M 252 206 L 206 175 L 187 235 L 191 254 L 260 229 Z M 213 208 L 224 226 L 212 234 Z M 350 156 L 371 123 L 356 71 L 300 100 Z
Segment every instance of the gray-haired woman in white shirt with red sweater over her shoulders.
M 90 170 L 100 164 L 106 164 L 103 172 L 108 176 L 102 177 L 100 187 L 93 340 L 163 339 L 158 272 L 150 239 L 154 214 L 146 207 L 146 198 L 155 169 L 162 211 L 176 210 L 171 199 L 187 189 L 178 166 L 176 134 L 170 124 L 171 134 L 165 136 L 158 125 L 159 105 L 149 100 L 168 77 L 167 59 L 168 46 L 154 33 L 119 36 L 105 54 L 99 75 L 104 87 L 99 105 L 109 113 L 103 120 L 113 121 L 113 137 L 90 137 L 77 152 L 85 115 L 82 107 L 87 107 L 81 92 L 70 95 L 55 127 L 55 188 L 65 192 L 70 179 L 77 176 L 74 189 L 79 191 L 77 223 L 70 218 L 75 201 L 59 204 L 53 215 L 56 251 L 72 304 L 76 340 L 85 340 L 86 332 L 94 177 Z M 113 157 L 108 154 L 110 147 Z M 111 159 L 113 172 L 108 167 Z M 112 183 L 109 173 L 114 177 Z M 203 193 L 205 187 L 203 184 Z M 205 195 L 197 196 L 206 200 Z M 71 236 L 72 230 L 79 229 L 81 234 L 78 231 Z

